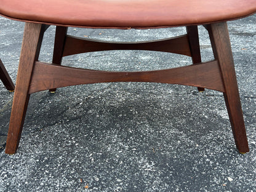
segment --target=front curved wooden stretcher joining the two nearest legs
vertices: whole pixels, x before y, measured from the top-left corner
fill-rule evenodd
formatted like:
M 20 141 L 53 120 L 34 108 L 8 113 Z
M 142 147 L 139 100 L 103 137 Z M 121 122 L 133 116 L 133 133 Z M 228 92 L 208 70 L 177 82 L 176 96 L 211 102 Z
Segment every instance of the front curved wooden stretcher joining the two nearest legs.
M 52 87 L 120 81 L 162 82 L 207 87 L 208 89 L 224 91 L 217 61 L 168 70 L 138 72 L 85 70 L 36 62 L 34 64 L 29 93 L 51 89 Z

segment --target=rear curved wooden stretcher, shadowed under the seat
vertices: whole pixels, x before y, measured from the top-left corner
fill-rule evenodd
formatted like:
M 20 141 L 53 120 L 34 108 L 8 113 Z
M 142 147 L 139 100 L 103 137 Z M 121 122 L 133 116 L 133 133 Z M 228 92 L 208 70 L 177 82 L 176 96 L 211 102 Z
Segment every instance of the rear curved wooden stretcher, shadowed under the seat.
M 100 50 L 154 50 L 191 56 L 186 34 L 169 39 L 144 42 L 108 42 L 67 35 L 63 57 Z

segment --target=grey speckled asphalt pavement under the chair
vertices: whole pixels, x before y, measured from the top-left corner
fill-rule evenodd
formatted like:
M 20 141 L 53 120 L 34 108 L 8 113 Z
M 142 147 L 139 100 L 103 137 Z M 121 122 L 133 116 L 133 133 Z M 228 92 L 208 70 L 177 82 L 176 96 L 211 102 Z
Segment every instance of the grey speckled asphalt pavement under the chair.
M 236 150 L 223 95 L 147 82 L 88 84 L 31 94 L 17 153 L 4 153 L 13 92 L 0 82 L 0 191 L 256 191 L 256 15 L 228 22 L 250 152 Z M 0 17 L 0 58 L 15 82 L 24 23 Z M 145 41 L 185 28 L 69 34 Z M 199 26 L 202 60 L 213 58 Z M 39 60 L 50 62 L 55 27 Z M 163 52 L 113 50 L 72 55 L 63 65 L 158 70 L 190 65 Z

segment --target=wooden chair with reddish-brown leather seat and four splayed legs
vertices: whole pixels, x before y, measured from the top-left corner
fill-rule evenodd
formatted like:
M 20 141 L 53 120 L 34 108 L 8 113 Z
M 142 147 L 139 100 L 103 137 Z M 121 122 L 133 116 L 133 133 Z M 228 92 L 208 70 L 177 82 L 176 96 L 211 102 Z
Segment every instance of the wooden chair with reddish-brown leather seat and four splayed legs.
M 142 81 L 183 84 L 223 92 L 234 141 L 249 151 L 226 21 L 255 14 L 256 0 L 1 0 L 0 14 L 26 22 L 6 153 L 18 148 L 30 94 L 95 82 Z M 38 61 L 44 31 L 56 25 L 53 64 Z M 215 59 L 201 63 L 198 25 L 209 32 Z M 81 28 L 163 28 L 187 33 L 162 41 L 111 43 L 66 34 Z M 191 56 L 193 65 L 157 71 L 110 72 L 61 66 L 62 57 L 98 50 L 156 50 Z M 199 89 L 202 89 L 199 88 Z

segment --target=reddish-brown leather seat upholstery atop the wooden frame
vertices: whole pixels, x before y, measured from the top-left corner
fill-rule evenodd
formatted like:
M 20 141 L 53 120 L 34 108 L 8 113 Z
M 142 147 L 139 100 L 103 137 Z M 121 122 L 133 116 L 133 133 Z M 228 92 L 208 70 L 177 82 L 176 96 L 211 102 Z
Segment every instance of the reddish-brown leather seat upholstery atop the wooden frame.
M 0 14 L 25 22 L 102 28 L 154 28 L 234 20 L 256 0 L 0 0 Z

